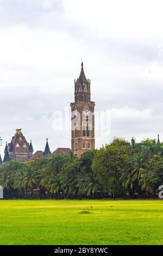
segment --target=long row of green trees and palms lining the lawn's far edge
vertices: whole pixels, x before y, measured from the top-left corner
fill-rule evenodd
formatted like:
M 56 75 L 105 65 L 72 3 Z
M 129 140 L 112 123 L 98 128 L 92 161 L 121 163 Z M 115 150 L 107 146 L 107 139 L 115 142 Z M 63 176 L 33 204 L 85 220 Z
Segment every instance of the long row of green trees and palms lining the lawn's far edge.
M 163 144 L 115 138 L 80 158 L 53 155 L 0 166 L 6 198 L 153 198 L 163 184 Z

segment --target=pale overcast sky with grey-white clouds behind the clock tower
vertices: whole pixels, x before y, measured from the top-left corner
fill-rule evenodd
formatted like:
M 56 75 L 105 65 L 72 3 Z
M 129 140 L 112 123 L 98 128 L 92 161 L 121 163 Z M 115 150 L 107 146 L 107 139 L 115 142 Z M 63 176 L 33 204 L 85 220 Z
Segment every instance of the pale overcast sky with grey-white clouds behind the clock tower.
M 17 128 L 35 151 L 46 137 L 52 151 L 70 147 L 55 112 L 74 100 L 81 59 L 96 111 L 110 115 L 97 148 L 114 136 L 163 140 L 162 14 L 161 0 L 0 0 L 2 156 Z

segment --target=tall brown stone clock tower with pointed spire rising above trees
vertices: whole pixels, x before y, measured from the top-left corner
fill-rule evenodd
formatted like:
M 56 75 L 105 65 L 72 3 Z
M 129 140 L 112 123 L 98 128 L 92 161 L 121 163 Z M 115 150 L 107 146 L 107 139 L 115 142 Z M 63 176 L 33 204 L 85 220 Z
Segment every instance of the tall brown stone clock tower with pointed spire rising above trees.
M 91 81 L 83 69 L 74 81 L 74 100 L 71 103 L 71 149 L 77 156 L 95 149 L 95 102 L 91 101 Z

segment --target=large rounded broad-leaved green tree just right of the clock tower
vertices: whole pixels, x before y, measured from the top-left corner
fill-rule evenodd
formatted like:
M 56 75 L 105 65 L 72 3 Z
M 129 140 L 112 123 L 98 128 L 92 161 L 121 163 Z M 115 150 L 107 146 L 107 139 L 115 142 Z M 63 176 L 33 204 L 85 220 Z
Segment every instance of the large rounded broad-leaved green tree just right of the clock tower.
M 115 138 L 109 145 L 103 146 L 96 153 L 92 168 L 95 170 L 99 183 L 106 193 L 111 192 L 112 198 L 122 193 L 120 177 L 123 169 L 128 166 L 131 145 L 124 139 Z

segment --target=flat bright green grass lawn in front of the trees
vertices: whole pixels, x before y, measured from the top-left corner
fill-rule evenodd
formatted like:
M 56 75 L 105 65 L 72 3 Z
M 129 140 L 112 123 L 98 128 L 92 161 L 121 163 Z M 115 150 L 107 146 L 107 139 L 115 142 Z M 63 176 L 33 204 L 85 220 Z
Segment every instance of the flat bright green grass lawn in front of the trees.
M 162 245 L 162 230 L 159 200 L 0 201 L 1 245 Z

